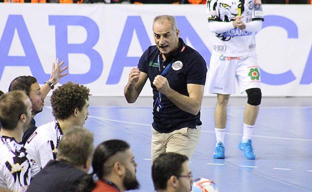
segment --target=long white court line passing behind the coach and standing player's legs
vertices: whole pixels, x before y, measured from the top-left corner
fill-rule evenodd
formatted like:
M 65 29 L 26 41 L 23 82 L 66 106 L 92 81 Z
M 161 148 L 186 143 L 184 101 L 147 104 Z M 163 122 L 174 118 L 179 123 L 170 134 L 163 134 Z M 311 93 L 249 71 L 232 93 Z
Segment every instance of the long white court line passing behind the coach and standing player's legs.
M 111 122 L 117 122 L 117 123 L 126 123 L 126 124 L 132 124 L 132 125 L 142 125 L 142 126 L 151 127 L 151 123 L 150 123 L 150 124 L 146 124 L 146 123 L 134 123 L 134 122 L 129 122 L 129 121 L 119 121 L 119 120 L 107 119 L 107 118 L 102 118 L 102 117 L 95 117 L 95 116 L 92 116 L 92 115 L 89 115 L 88 117 L 94 118 L 94 119 L 99 119 L 99 120 L 104 120 L 104 121 L 111 121 Z M 214 131 L 201 130 L 201 132 L 213 133 L 213 134 L 214 134 Z M 226 135 L 237 135 L 237 136 L 242 136 L 242 134 L 238 134 L 238 133 L 225 133 L 225 134 L 226 134 Z M 308 141 L 308 142 L 312 142 L 312 140 L 308 140 L 308 139 L 294 139 L 294 138 L 284 138 L 284 137 L 270 137 L 270 136 L 261 136 L 261 135 L 253 135 L 252 137 L 268 138 L 268 139 L 283 139 L 283 140 L 291 140 L 291 141 Z

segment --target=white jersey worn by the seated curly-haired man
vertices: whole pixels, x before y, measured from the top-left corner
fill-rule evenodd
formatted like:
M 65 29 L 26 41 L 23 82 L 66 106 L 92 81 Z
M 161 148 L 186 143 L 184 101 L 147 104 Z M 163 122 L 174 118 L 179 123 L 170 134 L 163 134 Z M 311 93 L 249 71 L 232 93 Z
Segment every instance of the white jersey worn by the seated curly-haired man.
M 48 161 L 56 159 L 58 143 L 63 133 L 55 119 L 41 125 L 29 137 L 25 148 L 36 164 L 43 168 Z

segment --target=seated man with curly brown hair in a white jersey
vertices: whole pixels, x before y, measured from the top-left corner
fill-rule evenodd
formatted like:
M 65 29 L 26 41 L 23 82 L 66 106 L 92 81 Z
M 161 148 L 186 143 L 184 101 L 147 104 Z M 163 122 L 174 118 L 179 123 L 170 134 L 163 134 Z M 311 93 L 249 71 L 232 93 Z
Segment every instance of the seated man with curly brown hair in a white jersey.
M 39 167 L 56 159 L 58 143 L 68 128 L 82 127 L 89 115 L 89 89 L 68 82 L 53 91 L 50 98 L 55 119 L 41 125 L 25 144 L 28 153 Z

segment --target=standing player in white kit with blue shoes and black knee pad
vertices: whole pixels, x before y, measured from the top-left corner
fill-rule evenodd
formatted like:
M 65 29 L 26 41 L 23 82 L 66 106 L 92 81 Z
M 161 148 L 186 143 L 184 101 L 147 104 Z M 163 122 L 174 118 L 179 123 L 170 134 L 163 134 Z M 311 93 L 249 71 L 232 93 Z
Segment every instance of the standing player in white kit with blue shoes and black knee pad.
M 224 158 L 226 107 L 229 95 L 247 93 L 243 136 L 238 145 L 246 159 L 255 159 L 252 129 L 261 102 L 260 75 L 255 54 L 255 32 L 262 27 L 260 0 L 207 0 L 207 18 L 212 33 L 212 55 L 208 71 L 208 92 L 217 94 L 214 110 L 216 145 L 213 158 Z

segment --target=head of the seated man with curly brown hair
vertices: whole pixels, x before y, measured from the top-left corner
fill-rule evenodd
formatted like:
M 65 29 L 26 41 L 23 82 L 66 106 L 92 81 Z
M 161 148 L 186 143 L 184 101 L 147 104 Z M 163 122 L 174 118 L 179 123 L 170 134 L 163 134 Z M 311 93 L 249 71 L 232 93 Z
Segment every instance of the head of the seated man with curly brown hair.
M 83 126 L 89 115 L 89 91 L 85 86 L 72 82 L 57 87 L 50 98 L 53 116 L 57 120 L 72 117 L 73 125 Z

